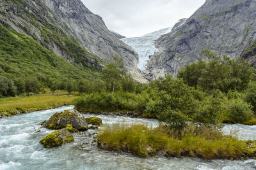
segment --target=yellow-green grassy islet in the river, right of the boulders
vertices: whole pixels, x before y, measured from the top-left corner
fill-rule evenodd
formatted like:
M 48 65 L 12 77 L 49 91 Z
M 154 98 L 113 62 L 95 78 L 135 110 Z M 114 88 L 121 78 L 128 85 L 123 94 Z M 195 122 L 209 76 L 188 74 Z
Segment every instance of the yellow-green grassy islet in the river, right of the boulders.
M 152 129 L 144 125 L 115 124 L 104 127 L 97 138 L 105 150 L 131 152 L 139 157 L 161 153 L 166 157 L 241 159 L 248 146 L 245 141 L 223 136 L 218 129 L 195 125 L 177 132 L 163 125 Z

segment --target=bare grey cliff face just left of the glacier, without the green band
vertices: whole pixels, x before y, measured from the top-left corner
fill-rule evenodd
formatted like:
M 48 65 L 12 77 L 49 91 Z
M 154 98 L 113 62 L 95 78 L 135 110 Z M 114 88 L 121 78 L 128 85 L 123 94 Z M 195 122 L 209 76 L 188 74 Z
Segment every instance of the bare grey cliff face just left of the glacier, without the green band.
M 147 82 L 137 68 L 138 54 L 109 31 L 99 15 L 93 14 L 80 0 L 42 0 L 89 52 L 105 62 L 111 62 L 115 54 L 123 57 L 125 69 L 135 80 Z

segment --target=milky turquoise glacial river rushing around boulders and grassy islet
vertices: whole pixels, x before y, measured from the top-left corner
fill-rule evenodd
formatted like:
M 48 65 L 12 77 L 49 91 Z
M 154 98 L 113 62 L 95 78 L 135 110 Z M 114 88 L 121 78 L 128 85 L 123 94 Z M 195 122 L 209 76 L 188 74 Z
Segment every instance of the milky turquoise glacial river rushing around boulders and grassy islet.
M 54 110 L 36 111 L 15 117 L 0 119 L 0 169 L 256 169 L 256 160 L 202 160 L 192 158 L 154 157 L 141 159 L 128 153 L 99 150 L 89 130 L 88 136 L 74 135 L 74 143 L 58 148 L 45 149 L 40 139 L 50 130 L 42 129 L 40 122 L 48 120 L 56 111 L 72 109 L 66 106 Z M 84 115 L 92 117 L 92 115 Z M 104 124 L 116 122 L 141 123 L 156 126 L 157 120 L 97 116 Z M 256 139 L 256 126 L 226 125 L 225 134 L 233 134 L 239 139 Z M 85 146 L 81 147 L 81 143 Z

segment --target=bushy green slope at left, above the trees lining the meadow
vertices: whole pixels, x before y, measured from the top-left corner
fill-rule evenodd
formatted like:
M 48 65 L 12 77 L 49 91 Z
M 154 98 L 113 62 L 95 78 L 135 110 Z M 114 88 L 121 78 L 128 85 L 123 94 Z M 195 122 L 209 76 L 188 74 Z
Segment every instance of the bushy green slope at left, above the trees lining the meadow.
M 100 76 L 99 71 L 71 64 L 33 38 L 6 29 L 2 24 L 0 34 L 0 75 L 10 80 L 36 78 L 48 86 L 52 81 L 61 81 L 63 78 L 90 80 Z

